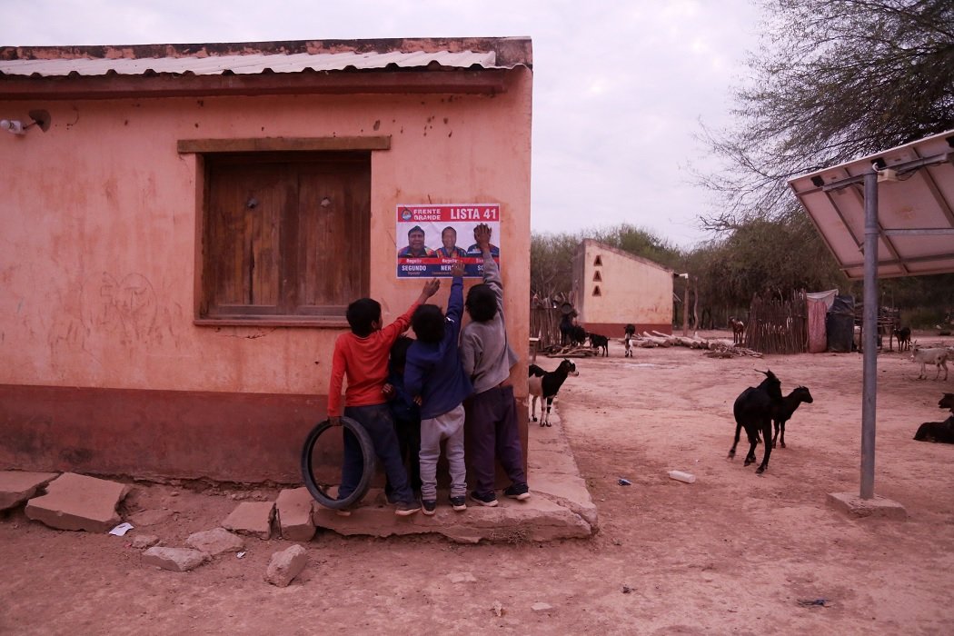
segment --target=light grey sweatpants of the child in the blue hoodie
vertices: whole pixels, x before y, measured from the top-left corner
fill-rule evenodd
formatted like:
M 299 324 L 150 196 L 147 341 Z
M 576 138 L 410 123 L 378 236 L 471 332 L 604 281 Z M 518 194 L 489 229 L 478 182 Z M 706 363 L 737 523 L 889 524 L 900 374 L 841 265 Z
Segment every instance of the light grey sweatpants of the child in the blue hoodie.
M 446 440 L 447 468 L 450 472 L 450 496 L 467 494 L 467 467 L 464 464 L 464 405 L 444 415 L 421 421 L 421 499 L 437 499 L 437 461 L 441 441 Z

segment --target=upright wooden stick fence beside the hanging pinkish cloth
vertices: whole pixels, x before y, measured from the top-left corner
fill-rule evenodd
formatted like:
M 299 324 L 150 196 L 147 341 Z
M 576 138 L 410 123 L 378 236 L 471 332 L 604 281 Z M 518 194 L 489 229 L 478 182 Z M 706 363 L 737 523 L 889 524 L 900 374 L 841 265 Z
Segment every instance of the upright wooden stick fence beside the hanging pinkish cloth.
M 805 293 L 790 300 L 752 298 L 745 346 L 763 354 L 801 354 L 808 351 L 808 303 Z

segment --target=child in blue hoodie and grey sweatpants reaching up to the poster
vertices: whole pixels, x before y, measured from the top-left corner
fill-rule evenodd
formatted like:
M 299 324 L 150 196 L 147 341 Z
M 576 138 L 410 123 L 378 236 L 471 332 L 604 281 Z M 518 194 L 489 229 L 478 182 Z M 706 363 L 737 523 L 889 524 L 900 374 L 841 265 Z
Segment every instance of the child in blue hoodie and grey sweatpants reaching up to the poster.
M 417 340 L 407 350 L 404 389 L 421 405 L 421 503 L 425 515 L 437 508 L 437 461 L 446 440 L 450 504 L 467 509 L 464 464 L 464 399 L 473 390 L 461 364 L 457 339 L 464 316 L 464 264 L 450 270 L 453 282 L 446 316 L 436 305 L 421 305 L 411 317 Z

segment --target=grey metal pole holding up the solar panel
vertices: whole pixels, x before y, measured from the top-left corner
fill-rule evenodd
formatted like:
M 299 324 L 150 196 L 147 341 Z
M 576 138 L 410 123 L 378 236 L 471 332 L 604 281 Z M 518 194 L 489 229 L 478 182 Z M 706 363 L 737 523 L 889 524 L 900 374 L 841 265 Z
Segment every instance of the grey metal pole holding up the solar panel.
M 864 174 L 864 384 L 861 398 L 861 499 L 875 496 L 875 397 L 878 390 L 878 173 Z

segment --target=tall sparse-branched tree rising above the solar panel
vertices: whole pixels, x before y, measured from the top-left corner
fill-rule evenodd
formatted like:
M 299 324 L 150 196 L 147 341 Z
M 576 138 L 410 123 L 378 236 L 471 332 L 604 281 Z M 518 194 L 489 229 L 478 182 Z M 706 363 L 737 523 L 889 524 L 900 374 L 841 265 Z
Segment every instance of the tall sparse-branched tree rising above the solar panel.
M 766 16 L 735 128 L 703 131 L 726 230 L 799 210 L 787 180 L 954 128 L 951 0 L 759 0 Z

